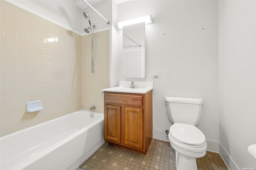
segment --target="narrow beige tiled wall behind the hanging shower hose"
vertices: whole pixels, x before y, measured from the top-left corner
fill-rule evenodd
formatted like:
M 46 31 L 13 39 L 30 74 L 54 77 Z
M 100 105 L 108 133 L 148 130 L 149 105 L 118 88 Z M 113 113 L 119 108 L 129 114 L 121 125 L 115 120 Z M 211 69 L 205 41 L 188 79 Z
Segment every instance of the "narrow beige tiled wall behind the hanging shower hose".
M 104 112 L 104 98 L 101 89 L 110 87 L 110 30 L 82 37 L 82 108 L 96 106 L 96 112 Z M 91 72 L 91 51 L 94 72 Z

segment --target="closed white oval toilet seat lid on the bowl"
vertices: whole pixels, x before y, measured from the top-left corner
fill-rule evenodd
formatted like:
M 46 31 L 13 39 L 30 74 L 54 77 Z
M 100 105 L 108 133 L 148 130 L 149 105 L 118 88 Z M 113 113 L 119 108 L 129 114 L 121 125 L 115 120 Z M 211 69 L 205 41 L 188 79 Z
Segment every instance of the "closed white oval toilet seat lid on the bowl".
M 190 124 L 174 123 L 169 131 L 173 139 L 193 148 L 204 146 L 205 136 L 196 126 Z

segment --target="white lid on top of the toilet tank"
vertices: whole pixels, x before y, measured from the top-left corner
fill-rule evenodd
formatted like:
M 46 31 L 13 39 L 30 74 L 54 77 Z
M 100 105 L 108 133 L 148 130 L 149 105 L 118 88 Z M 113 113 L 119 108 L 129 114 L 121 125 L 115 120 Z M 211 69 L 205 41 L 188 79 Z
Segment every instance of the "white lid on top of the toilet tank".
M 172 102 L 172 103 L 188 103 L 188 104 L 203 104 L 204 103 L 202 98 L 189 98 L 189 97 L 165 96 L 164 100 L 166 102 Z

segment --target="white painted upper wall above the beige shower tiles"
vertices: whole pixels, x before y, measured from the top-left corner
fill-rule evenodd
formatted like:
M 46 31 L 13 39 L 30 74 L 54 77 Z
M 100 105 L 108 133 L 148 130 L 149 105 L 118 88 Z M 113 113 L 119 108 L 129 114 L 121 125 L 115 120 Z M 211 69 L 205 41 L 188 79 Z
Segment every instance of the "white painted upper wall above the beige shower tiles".
M 104 17 L 110 21 L 107 24 L 96 12 L 91 8 L 81 10 L 73 0 L 7 0 L 17 6 L 48 19 L 64 28 L 86 35 L 84 28 L 89 25 L 88 20 L 84 18 L 83 11 L 88 12 L 90 21 L 96 25 L 95 31 L 106 30 L 111 28 L 112 23 L 112 1 L 106 0 L 93 7 Z

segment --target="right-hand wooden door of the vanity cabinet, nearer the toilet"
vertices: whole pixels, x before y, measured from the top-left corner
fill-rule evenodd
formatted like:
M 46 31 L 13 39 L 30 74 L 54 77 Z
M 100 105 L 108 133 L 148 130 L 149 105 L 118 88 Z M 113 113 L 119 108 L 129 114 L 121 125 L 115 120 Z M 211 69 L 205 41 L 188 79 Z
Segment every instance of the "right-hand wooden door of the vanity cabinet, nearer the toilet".
M 143 142 L 142 108 L 124 107 L 124 144 L 142 149 Z

